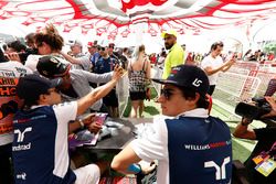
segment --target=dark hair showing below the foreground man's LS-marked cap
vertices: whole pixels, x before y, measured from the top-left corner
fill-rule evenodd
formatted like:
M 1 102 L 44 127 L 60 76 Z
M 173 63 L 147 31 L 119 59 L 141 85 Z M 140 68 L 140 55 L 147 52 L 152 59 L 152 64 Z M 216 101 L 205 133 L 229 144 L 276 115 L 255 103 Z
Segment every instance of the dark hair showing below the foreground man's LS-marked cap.
M 184 99 L 194 99 L 195 98 L 195 90 L 192 88 L 187 88 L 187 87 L 180 87 L 177 86 L 181 93 Z M 204 108 L 208 109 L 209 107 L 209 101 L 205 99 L 205 97 L 200 96 L 199 100 L 197 101 L 197 107 L 198 108 Z

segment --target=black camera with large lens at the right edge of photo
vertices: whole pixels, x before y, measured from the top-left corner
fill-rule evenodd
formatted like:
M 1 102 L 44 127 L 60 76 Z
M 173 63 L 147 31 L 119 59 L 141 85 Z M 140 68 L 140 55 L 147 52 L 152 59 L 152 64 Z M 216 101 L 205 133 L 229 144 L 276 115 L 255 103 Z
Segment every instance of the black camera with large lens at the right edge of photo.
M 255 102 L 255 105 L 238 102 L 235 107 L 235 113 L 247 119 L 259 120 L 262 116 L 268 113 L 272 110 L 272 107 L 265 98 L 253 98 L 252 100 Z

